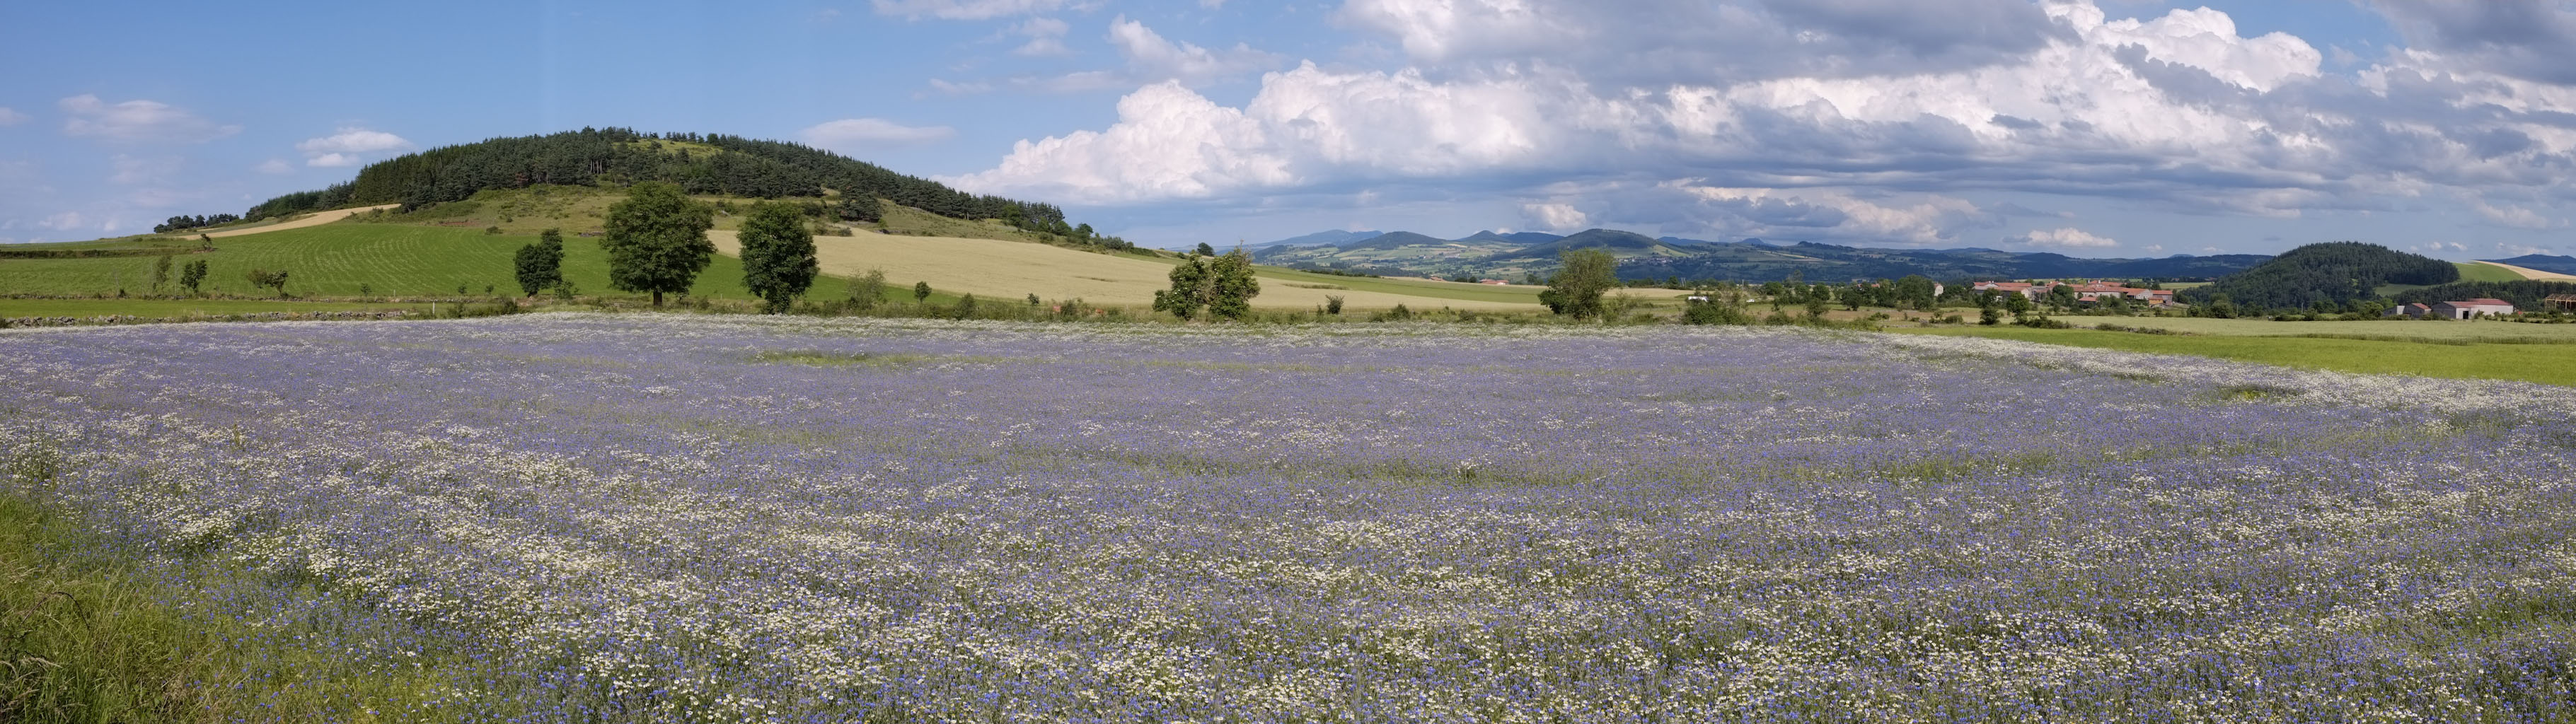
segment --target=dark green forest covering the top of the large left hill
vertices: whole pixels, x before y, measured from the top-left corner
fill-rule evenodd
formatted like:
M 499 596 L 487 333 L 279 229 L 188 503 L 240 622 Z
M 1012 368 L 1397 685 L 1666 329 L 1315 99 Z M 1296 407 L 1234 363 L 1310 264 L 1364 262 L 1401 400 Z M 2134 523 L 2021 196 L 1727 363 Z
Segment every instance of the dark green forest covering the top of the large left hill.
M 670 180 L 688 193 L 757 198 L 824 196 L 824 188 L 845 196 L 858 191 L 956 219 L 1025 219 L 1041 229 L 1064 224 L 1064 211 L 1051 204 L 976 196 L 804 144 L 634 129 L 580 129 L 425 149 L 361 167 L 355 180 L 332 188 L 270 198 L 242 216 L 371 204 L 428 206 L 461 201 L 484 188 L 634 180 Z

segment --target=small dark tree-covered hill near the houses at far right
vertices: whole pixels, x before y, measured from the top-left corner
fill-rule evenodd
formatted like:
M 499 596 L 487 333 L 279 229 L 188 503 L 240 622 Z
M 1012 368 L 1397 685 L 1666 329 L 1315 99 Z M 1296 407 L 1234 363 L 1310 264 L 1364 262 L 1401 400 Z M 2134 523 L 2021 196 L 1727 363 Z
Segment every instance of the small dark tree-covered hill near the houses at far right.
M 2367 242 L 2321 242 L 2287 250 L 2182 296 L 2192 304 L 2208 304 L 2226 294 L 2228 301 L 2246 309 L 2300 309 L 2316 301 L 2378 299 L 2383 283 L 2452 281 L 2460 281 L 2460 268 L 2447 260 Z

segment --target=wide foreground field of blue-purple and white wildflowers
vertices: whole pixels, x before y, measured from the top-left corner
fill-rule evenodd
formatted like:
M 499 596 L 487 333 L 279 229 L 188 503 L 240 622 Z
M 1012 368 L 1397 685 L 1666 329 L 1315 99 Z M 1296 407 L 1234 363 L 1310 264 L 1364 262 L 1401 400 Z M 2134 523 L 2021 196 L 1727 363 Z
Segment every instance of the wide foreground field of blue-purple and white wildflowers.
M 2555 386 L 652 314 L 13 330 L 0 368 L 0 487 L 265 572 L 201 616 L 435 660 L 420 716 L 2576 719 Z

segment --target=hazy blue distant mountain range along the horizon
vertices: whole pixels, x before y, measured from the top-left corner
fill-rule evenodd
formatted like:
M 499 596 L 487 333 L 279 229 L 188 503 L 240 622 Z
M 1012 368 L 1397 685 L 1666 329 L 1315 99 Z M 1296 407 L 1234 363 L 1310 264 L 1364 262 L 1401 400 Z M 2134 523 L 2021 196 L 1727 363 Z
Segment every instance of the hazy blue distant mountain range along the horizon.
M 1772 245 L 1765 240 L 1705 242 L 1646 237 L 1618 229 L 1587 229 L 1569 237 L 1540 232 L 1476 232 L 1455 240 L 1414 232 L 1378 234 L 1334 229 L 1247 247 L 1255 250 L 1255 260 L 1273 265 L 1515 281 L 1528 273 L 1553 271 L 1558 252 L 1584 247 L 1610 250 L 1610 255 L 1620 260 L 1623 278 L 1680 276 L 1692 281 L 1780 281 L 1790 273 L 1806 281 L 1901 278 L 1909 273 L 1942 281 L 2076 276 L 2218 278 L 2269 260 L 2269 255 L 2069 258 L 2058 252 L 2004 252 L 1978 247 L 1886 250 L 1819 242 Z M 2576 263 L 2576 258 L 2568 263 Z

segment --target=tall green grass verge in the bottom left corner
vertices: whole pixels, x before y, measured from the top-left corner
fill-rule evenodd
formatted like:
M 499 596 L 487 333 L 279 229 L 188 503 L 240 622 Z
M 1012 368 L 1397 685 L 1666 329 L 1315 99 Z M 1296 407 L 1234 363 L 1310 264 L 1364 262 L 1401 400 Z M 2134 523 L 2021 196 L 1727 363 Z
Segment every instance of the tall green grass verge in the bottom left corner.
M 453 721 L 459 683 L 314 642 L 332 616 L 245 621 L 183 600 L 252 577 L 113 554 L 80 520 L 0 490 L 0 721 Z M 286 595 L 312 595 L 283 590 Z M 265 613 L 265 611 L 263 611 Z

